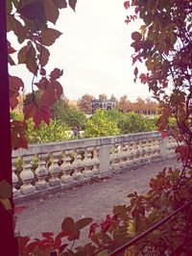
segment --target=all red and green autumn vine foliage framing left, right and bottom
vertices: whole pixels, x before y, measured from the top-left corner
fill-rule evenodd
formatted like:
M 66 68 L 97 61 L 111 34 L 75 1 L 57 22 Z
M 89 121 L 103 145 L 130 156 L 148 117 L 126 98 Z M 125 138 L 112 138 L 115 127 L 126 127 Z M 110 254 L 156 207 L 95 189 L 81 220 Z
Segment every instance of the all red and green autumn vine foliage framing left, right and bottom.
M 75 10 L 76 0 L 68 5 Z M 46 73 L 49 60 L 48 47 L 60 32 L 48 27 L 47 21 L 55 24 L 65 0 L 7 1 L 8 32 L 13 32 L 21 49 L 15 51 L 8 42 L 9 64 L 24 64 L 33 73 L 32 88 L 40 90 L 40 97 L 24 109 L 25 120 L 33 117 L 36 126 L 41 121 L 49 122 L 50 105 L 62 93 L 58 79 L 62 70 L 54 68 Z M 183 204 L 190 202 L 192 192 L 192 4 L 189 0 L 132 0 L 124 7 L 133 10 L 126 23 L 141 18 L 140 32 L 132 33 L 132 64 L 143 63 L 146 73 L 135 67 L 135 82 L 140 79 L 154 92 L 161 107 L 158 119 L 160 131 L 167 130 L 169 117 L 175 117 L 177 127 L 172 136 L 179 142 L 176 153 L 180 167 L 165 168 L 150 181 L 150 190 L 144 194 L 132 192 L 128 205 L 114 206 L 113 215 L 100 223 L 91 218 L 75 221 L 64 218 L 58 235 L 42 233 L 42 239 L 31 242 L 19 237 L 20 255 L 108 255 L 116 247 L 127 243 L 135 236 L 169 216 Z M 36 84 L 34 83 L 36 77 Z M 24 84 L 20 78 L 10 76 L 11 108 L 17 105 L 18 90 Z M 47 100 L 48 99 L 48 100 Z M 51 104 L 50 104 L 51 103 Z M 26 147 L 26 122 L 12 121 L 12 148 Z M 159 226 L 143 240 L 134 243 L 124 255 L 191 255 L 192 226 L 191 208 L 180 211 L 170 221 Z M 74 246 L 89 225 L 87 243 Z

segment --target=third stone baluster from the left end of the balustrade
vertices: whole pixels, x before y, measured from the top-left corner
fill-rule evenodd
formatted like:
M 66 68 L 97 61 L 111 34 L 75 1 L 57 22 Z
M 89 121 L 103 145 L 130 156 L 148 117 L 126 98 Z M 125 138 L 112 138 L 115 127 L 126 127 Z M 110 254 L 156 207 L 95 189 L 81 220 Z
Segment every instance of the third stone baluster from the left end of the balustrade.
M 36 168 L 36 189 L 38 191 L 44 190 L 48 187 L 48 183 L 46 182 L 46 178 L 48 177 L 48 169 L 46 168 L 45 155 L 38 155 L 38 166 Z

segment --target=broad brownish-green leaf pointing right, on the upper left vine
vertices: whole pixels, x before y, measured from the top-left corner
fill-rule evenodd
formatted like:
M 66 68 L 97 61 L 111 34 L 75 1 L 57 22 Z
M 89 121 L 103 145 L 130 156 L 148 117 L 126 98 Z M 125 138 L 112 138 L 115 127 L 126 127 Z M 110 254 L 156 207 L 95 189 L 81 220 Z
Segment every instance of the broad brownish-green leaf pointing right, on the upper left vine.
M 41 32 L 41 41 L 42 44 L 46 46 L 52 45 L 57 38 L 60 38 L 60 31 L 55 29 L 47 29 Z

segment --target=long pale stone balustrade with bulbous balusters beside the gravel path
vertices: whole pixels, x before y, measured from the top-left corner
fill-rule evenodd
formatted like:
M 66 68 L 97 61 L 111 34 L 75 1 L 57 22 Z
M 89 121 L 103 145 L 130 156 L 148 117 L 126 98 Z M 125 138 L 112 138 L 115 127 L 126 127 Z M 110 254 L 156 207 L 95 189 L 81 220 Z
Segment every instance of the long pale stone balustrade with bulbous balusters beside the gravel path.
M 12 153 L 13 197 L 24 201 L 165 160 L 175 147 L 173 138 L 157 132 L 29 145 Z

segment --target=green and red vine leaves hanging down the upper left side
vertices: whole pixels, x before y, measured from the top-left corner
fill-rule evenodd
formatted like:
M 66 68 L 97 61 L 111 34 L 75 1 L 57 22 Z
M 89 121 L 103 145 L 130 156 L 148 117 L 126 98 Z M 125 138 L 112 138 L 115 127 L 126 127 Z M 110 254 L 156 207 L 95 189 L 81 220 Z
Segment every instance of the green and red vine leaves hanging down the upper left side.
M 60 99 L 62 87 L 59 79 L 63 71 L 54 68 L 50 74 L 46 65 L 50 59 L 49 47 L 60 38 L 60 31 L 53 28 L 60 15 L 60 9 L 69 6 L 75 11 L 76 0 L 36 0 L 7 2 L 7 29 L 9 64 L 25 65 L 33 74 L 31 86 L 40 91 L 40 97 L 24 108 L 24 120 L 12 121 L 12 149 L 27 147 L 26 120 L 33 117 L 36 127 L 43 121 L 49 124 L 52 105 Z M 49 23 L 53 25 L 48 25 Z M 20 49 L 15 50 L 9 40 L 14 34 Z M 19 90 L 24 90 L 22 78 L 10 75 L 10 106 L 13 110 L 18 104 Z

